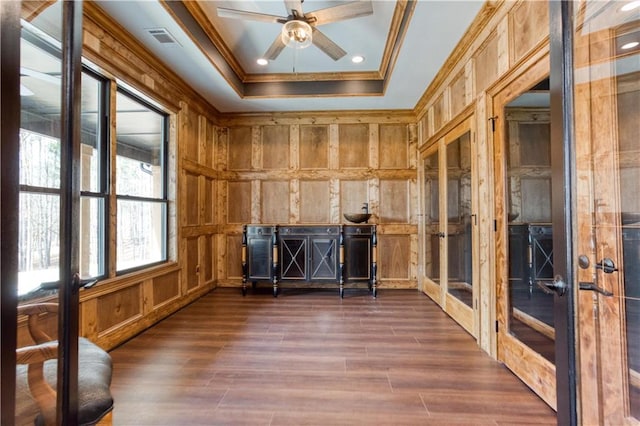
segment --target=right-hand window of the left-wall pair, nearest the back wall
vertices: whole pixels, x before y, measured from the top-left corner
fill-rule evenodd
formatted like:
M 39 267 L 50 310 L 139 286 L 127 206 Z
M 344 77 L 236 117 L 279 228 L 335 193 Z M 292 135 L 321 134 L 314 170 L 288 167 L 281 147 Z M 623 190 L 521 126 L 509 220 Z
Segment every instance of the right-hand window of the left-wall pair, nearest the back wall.
M 167 259 L 167 117 L 122 90 L 116 98 L 117 270 Z

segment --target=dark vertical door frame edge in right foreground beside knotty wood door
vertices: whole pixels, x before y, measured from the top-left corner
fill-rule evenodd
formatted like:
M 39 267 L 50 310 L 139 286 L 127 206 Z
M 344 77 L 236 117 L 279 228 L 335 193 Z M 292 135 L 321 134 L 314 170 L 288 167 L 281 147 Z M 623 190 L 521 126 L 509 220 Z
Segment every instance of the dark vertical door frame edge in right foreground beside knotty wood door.
M 573 2 L 549 2 L 553 270 L 567 285 L 554 295 L 558 424 L 576 425 L 576 153 L 573 99 Z M 560 184 L 560 185 L 558 185 Z M 561 188 L 561 190 L 558 190 Z

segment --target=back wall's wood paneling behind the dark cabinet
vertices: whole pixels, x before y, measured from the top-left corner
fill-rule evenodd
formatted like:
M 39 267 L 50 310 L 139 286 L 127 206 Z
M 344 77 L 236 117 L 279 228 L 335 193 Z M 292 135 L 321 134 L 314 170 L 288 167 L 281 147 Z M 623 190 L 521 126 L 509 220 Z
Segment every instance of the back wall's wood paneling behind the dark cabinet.
M 406 113 L 229 117 L 219 139 L 217 208 L 226 211 L 219 284 L 241 285 L 244 223 L 347 223 L 368 203 L 378 226 L 381 288 L 416 288 L 415 118 Z M 224 269 L 226 268 L 226 269 Z

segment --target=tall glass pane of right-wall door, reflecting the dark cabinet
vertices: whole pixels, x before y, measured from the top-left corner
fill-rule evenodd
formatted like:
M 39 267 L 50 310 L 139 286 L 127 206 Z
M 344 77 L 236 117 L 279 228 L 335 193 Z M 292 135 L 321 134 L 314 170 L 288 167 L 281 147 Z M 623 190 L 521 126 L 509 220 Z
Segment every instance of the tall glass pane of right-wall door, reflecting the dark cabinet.
M 505 108 L 508 190 L 509 332 L 554 362 L 548 80 Z M 536 99 L 534 101 L 534 99 Z

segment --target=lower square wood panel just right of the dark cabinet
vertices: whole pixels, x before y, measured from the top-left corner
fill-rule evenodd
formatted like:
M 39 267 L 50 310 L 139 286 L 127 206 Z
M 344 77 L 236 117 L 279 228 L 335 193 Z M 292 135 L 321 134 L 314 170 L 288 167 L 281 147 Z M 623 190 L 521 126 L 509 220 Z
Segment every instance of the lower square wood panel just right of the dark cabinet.
M 409 279 L 411 239 L 408 235 L 381 235 L 378 238 L 380 279 Z

